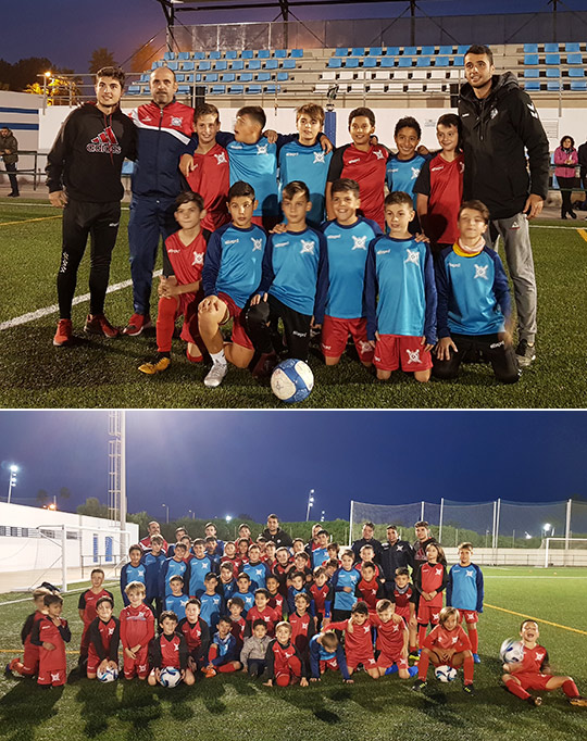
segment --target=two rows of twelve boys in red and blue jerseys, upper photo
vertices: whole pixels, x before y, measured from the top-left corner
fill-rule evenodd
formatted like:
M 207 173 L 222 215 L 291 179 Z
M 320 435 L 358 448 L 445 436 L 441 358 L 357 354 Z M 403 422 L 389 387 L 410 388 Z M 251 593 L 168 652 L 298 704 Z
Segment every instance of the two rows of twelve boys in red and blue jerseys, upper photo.
M 432 158 L 417 151 L 411 116 L 396 125 L 395 153 L 367 108 L 350 113 L 352 142 L 334 152 L 320 105 L 300 106 L 296 123 L 296 135 L 265 130 L 263 110 L 248 105 L 228 134 L 214 105 L 195 111 L 158 287 L 158 355 L 139 370 L 170 367 L 183 316 L 187 359 L 212 361 L 209 388 L 229 364 L 262 378 L 285 357 L 308 360 L 319 331 L 326 365 L 350 336 L 379 380 L 399 367 L 417 381 L 452 379 L 483 353 L 515 382 L 508 280 L 484 239 L 489 212 L 462 202 L 459 117 L 440 116 Z

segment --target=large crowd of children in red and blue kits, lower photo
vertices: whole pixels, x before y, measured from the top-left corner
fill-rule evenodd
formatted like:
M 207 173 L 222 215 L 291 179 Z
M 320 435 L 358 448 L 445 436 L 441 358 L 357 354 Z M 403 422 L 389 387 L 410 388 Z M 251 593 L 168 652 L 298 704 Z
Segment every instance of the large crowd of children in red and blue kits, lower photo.
M 278 522 L 276 515 L 271 519 Z M 78 602 L 79 671 L 88 679 L 117 673 L 122 649 L 125 679 L 152 686 L 170 667 L 188 686 L 241 671 L 267 687 L 307 687 L 326 671 L 352 683 L 362 669 L 373 679 L 416 677 L 412 689 L 422 692 L 430 670 L 448 666 L 462 669 L 462 689 L 473 695 L 484 580 L 472 544 L 459 545 L 459 562 L 448 569 L 427 523 L 416 523 L 413 547 L 389 538 L 389 531 L 397 536 L 396 526 L 382 545 L 373 528 L 366 523 L 352 548 L 330 542 L 321 525 L 307 544 L 280 529 L 273 540 L 253 541 L 247 525 L 235 542 L 224 543 L 210 523 L 204 538 L 192 541 L 178 528 L 177 542 L 167 545 L 155 528 L 129 549 L 120 617 L 103 570 L 92 570 Z M 389 575 L 395 558 L 405 565 Z M 7 674 L 36 677 L 41 688 L 61 687 L 71 640 L 63 600 L 48 589 L 35 590 L 33 599 L 36 610 L 21 633 L 24 656 L 13 658 Z M 528 690 L 555 689 L 570 704 L 587 706 L 573 679 L 550 669 L 537 642 L 538 624 L 525 619 L 520 636 L 523 655 L 503 664 L 504 687 L 533 706 L 541 698 Z

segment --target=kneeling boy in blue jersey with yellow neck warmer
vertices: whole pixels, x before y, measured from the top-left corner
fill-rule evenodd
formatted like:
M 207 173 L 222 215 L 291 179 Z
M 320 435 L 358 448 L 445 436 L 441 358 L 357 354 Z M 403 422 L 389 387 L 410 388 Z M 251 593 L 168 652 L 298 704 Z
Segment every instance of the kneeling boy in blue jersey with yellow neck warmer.
M 510 331 L 510 288 L 498 253 L 485 244 L 488 224 L 487 206 L 465 201 L 459 210 L 459 240 L 438 258 L 437 378 L 457 378 L 470 350 L 483 352 L 503 384 L 520 378 Z

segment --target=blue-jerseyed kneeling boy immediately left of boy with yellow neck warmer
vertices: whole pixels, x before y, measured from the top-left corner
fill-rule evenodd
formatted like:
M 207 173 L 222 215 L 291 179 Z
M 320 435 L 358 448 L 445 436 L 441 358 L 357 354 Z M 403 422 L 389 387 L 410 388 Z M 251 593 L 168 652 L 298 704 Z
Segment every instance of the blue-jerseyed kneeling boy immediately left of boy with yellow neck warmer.
M 367 337 L 375 348 L 379 380 L 387 380 L 400 364 L 417 381 L 430 377 L 430 350 L 436 343 L 436 285 L 428 247 L 409 231 L 413 217 L 411 196 L 389 193 L 385 199 L 389 236 L 377 237 L 369 247 Z

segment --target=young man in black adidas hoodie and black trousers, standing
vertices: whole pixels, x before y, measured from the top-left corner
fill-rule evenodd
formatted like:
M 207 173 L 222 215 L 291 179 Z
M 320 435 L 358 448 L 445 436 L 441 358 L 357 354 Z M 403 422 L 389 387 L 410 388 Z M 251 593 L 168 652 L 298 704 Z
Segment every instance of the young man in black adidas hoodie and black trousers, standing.
M 85 103 L 67 116 L 47 158 L 49 200 L 63 209 L 55 346 L 72 341 L 72 301 L 88 236 L 90 306 L 84 330 L 108 338 L 118 335 L 104 316 L 104 299 L 124 196 L 121 171 L 125 158 L 136 156 L 135 126 L 118 108 L 124 78 L 117 67 L 96 74 L 96 103 Z

